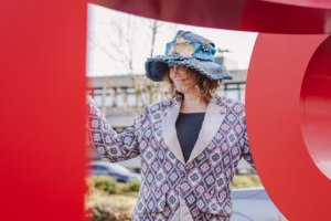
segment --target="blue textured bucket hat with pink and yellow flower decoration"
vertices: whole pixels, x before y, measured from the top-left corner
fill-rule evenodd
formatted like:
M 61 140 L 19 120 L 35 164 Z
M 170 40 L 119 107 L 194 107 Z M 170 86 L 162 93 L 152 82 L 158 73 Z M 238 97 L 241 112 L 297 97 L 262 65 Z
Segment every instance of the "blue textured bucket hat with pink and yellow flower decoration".
M 178 31 L 173 41 L 167 43 L 166 54 L 150 57 L 145 63 L 146 75 L 154 82 L 163 81 L 169 65 L 190 67 L 210 80 L 232 80 L 226 67 L 215 63 L 215 44 L 190 31 Z

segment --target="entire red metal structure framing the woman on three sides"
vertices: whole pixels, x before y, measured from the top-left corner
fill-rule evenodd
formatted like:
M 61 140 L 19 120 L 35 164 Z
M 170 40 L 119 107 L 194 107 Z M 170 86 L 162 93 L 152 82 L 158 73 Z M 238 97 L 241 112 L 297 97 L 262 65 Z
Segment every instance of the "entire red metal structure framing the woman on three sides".
M 290 221 L 331 219 L 330 1 L 93 2 L 164 21 L 265 33 L 256 41 L 246 94 L 258 172 Z M 86 4 L 0 2 L 0 220 L 84 220 Z

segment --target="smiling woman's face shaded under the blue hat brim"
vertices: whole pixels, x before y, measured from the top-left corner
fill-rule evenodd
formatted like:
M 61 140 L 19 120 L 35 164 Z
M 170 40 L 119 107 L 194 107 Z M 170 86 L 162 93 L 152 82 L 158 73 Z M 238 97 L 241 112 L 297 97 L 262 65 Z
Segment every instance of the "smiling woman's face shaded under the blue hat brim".
M 185 93 L 185 88 L 193 83 L 192 75 L 189 76 L 189 69 L 181 66 L 170 66 L 170 78 L 174 83 L 177 91 Z

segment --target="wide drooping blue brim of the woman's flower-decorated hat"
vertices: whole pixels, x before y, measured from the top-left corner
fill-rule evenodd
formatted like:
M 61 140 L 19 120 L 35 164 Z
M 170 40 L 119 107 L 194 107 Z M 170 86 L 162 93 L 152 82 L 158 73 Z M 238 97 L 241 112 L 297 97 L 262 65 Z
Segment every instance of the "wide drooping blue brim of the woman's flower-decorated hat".
M 150 57 L 145 63 L 146 75 L 153 82 L 162 82 L 163 75 L 168 71 L 168 64 L 196 70 L 212 81 L 232 80 L 233 76 L 226 67 L 214 62 L 197 59 L 186 59 L 179 55 L 158 55 Z

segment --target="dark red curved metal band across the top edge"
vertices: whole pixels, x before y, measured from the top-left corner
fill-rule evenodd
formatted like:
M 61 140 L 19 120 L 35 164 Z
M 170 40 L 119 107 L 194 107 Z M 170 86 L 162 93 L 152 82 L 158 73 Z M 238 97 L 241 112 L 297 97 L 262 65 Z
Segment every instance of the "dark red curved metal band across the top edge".
M 95 2 L 141 17 L 199 27 L 264 33 L 331 33 L 331 2 L 327 0 L 303 2 L 299 0 L 95 0 Z

